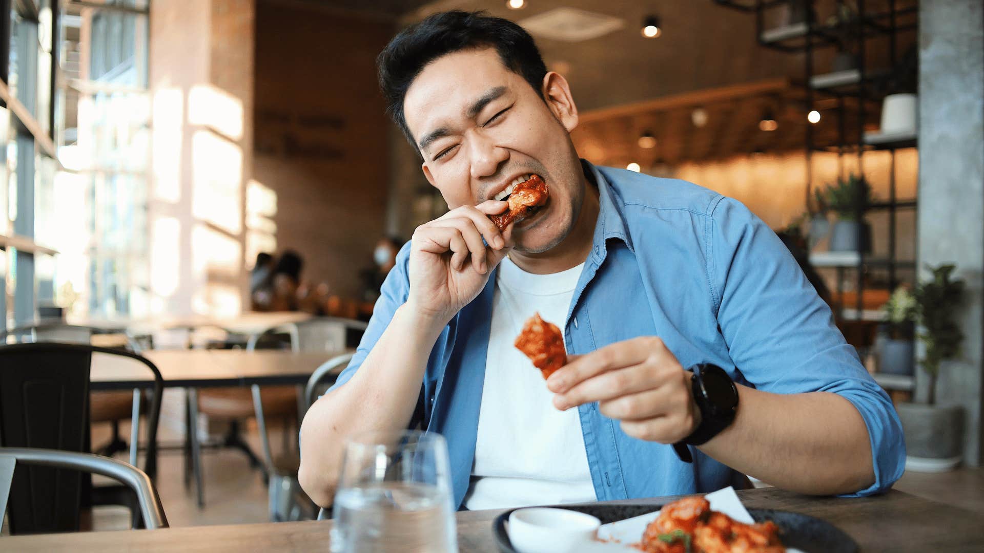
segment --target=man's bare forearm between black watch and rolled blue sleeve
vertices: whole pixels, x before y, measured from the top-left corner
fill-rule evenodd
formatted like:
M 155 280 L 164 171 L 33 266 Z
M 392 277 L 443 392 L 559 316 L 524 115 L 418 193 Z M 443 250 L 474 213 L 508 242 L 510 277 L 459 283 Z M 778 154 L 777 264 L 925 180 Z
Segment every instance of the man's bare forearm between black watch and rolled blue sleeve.
M 861 413 L 826 392 L 769 394 L 738 386 L 734 422 L 701 451 L 769 484 L 807 494 L 850 493 L 875 481 Z

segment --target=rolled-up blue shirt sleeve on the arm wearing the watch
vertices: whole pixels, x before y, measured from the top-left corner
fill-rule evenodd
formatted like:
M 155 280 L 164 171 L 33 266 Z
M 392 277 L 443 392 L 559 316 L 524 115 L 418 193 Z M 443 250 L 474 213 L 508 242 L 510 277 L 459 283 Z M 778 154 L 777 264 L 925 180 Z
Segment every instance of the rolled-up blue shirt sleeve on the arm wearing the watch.
M 708 219 L 707 243 L 717 321 L 741 376 L 766 392 L 830 392 L 849 400 L 868 429 L 875 483 L 846 496 L 888 490 L 905 465 L 892 400 L 782 241 L 741 203 L 723 199 Z

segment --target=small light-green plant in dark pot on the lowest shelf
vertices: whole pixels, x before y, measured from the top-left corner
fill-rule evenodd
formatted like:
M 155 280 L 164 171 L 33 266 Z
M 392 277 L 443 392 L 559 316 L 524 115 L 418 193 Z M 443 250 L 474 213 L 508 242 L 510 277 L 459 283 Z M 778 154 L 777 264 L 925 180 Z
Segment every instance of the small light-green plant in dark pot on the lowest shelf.
M 898 286 L 882 307 L 886 322 L 879 325 L 878 370 L 883 373 L 909 375 L 914 369 L 916 298 L 904 286 Z

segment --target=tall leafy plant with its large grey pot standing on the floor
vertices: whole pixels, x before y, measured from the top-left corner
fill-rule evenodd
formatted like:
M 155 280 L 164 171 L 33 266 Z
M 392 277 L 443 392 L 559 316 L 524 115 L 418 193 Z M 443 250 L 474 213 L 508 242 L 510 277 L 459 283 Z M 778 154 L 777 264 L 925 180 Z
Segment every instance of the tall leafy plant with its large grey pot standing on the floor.
M 944 362 L 959 354 L 963 332 L 956 322 L 963 296 L 963 280 L 951 276 L 954 265 L 929 268 L 933 278 L 915 291 L 919 341 L 925 352 L 919 367 L 926 373 L 925 402 L 899 403 L 898 417 L 909 470 L 943 471 L 959 464 L 963 453 L 963 408 L 936 403 L 936 381 Z

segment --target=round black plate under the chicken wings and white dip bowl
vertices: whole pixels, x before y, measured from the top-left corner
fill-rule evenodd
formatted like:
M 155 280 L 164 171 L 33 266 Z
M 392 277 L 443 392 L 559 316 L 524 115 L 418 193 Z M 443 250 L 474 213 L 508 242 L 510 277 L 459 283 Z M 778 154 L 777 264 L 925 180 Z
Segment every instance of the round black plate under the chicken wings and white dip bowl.
M 658 511 L 659 505 L 590 505 L 590 506 L 558 506 L 586 513 L 597 517 L 602 524 L 622 521 Z M 514 510 L 499 515 L 493 522 L 496 542 L 499 550 L 505 553 L 516 553 L 513 544 L 506 533 L 506 521 Z M 774 511 L 772 509 L 749 509 L 748 512 L 755 522 L 772 521 L 779 526 L 779 536 L 786 547 L 795 547 L 807 553 L 856 553 L 858 544 L 851 537 L 827 521 L 821 521 L 799 513 Z M 640 536 L 642 537 L 642 536 Z

